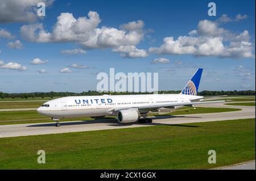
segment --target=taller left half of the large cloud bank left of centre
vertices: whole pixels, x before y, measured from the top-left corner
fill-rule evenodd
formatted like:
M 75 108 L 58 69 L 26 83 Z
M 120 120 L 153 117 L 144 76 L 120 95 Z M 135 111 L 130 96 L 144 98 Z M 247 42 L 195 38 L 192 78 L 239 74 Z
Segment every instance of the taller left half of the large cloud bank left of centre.
M 89 11 L 88 16 L 75 19 L 71 13 L 61 13 L 52 32 L 44 30 L 42 23 L 36 23 L 22 26 L 20 33 L 25 39 L 40 43 L 86 41 L 90 32 L 101 22 L 97 12 Z

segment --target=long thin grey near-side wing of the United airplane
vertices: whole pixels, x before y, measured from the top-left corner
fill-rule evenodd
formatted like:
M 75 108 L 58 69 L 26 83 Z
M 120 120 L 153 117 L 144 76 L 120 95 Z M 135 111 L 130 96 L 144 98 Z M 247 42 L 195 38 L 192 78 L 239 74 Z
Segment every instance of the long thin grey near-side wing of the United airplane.
M 111 111 L 121 111 L 127 109 L 137 108 L 138 110 L 148 110 L 160 107 L 175 107 L 175 106 L 192 106 L 194 104 L 209 104 L 209 103 L 224 103 L 225 100 L 215 100 L 215 101 L 204 101 L 204 102 L 188 102 L 188 103 L 170 103 L 170 104 L 159 104 L 159 105 L 148 105 L 148 106 L 138 106 L 138 107 L 123 107 L 123 108 L 114 108 Z

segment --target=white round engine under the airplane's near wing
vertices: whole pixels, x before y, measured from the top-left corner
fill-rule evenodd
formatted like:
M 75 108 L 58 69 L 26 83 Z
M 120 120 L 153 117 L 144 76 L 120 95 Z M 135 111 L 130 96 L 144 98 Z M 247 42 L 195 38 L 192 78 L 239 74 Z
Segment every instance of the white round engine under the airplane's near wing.
M 119 123 L 133 123 L 141 117 L 137 110 L 121 110 L 117 112 Z

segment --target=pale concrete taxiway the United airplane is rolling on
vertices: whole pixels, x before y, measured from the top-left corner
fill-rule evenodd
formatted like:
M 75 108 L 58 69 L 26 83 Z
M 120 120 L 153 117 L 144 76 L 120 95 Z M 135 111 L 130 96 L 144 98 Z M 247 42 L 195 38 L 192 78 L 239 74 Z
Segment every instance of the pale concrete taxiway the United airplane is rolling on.
M 199 123 L 207 121 L 221 121 L 234 119 L 255 118 L 254 106 L 229 106 L 223 103 L 204 104 L 202 107 L 231 107 L 242 108 L 241 111 L 220 112 L 220 113 L 203 113 L 192 115 L 177 116 L 156 116 L 152 117 L 153 123 L 149 124 L 119 124 L 115 119 L 92 120 L 92 121 L 66 121 L 61 123 L 60 127 L 55 127 L 55 123 L 30 123 L 30 124 L 13 124 L 0 125 L 0 137 L 30 136 L 39 134 L 69 133 L 82 131 L 97 131 L 104 129 L 121 129 L 135 127 L 150 127 L 154 125 L 167 124 L 186 124 Z

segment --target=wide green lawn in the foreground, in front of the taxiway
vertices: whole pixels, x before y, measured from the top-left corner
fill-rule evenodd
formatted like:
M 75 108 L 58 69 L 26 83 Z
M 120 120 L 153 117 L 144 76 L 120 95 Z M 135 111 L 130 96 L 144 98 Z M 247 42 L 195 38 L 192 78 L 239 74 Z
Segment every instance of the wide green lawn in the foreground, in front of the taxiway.
M 0 148 L 0 169 L 210 169 L 255 159 L 255 119 L 1 138 Z

